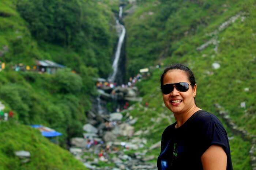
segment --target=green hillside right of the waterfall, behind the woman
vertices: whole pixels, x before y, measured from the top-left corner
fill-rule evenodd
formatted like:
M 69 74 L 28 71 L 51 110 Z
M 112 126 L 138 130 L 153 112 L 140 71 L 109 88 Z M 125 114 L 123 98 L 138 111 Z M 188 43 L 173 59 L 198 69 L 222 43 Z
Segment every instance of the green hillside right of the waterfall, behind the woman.
M 148 146 L 161 140 L 163 130 L 175 121 L 163 105 L 160 91 L 160 76 L 171 63 L 183 63 L 195 73 L 200 108 L 221 119 L 214 107 L 218 103 L 239 129 L 256 135 L 255 1 L 148 0 L 138 1 L 132 14 L 129 8 L 132 5 L 127 5 L 125 18 L 127 74 L 133 76 L 140 68 L 163 63 L 150 78 L 137 84 L 142 105 L 148 102 L 149 108 L 137 104 L 131 111 L 132 116 L 142 118 L 135 124 L 136 130 L 150 130 L 140 136 L 150 140 Z M 206 47 L 201 49 L 204 43 Z M 220 68 L 214 69 L 213 63 Z M 221 121 L 234 137 L 230 140 L 234 169 L 251 169 L 251 140 L 234 134 Z M 148 154 L 157 156 L 159 152 L 155 149 Z

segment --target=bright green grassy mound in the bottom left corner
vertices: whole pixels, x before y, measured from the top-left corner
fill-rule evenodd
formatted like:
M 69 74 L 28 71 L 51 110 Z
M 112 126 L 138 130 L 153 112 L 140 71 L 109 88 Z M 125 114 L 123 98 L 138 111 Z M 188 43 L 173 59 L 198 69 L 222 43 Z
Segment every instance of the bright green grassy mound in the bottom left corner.
M 85 170 L 72 154 L 44 138 L 38 130 L 14 121 L 0 123 L 1 170 Z M 14 152 L 29 151 L 30 162 L 22 164 Z

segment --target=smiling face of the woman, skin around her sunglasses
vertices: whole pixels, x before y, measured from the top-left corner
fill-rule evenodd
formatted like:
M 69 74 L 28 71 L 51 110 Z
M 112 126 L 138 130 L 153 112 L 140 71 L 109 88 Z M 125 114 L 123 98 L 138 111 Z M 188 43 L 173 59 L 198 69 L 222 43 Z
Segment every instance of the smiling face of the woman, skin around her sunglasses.
M 188 80 L 187 73 L 183 70 L 170 70 L 163 77 L 163 85 L 178 82 L 187 82 L 188 84 L 191 84 Z M 196 85 L 194 87 L 189 85 L 187 92 L 180 92 L 174 88 L 170 94 L 162 95 L 163 102 L 165 103 L 165 106 L 170 109 L 170 111 L 178 114 L 184 113 L 195 106 L 195 100 L 193 96 L 196 96 Z M 174 101 L 176 102 L 174 103 Z

